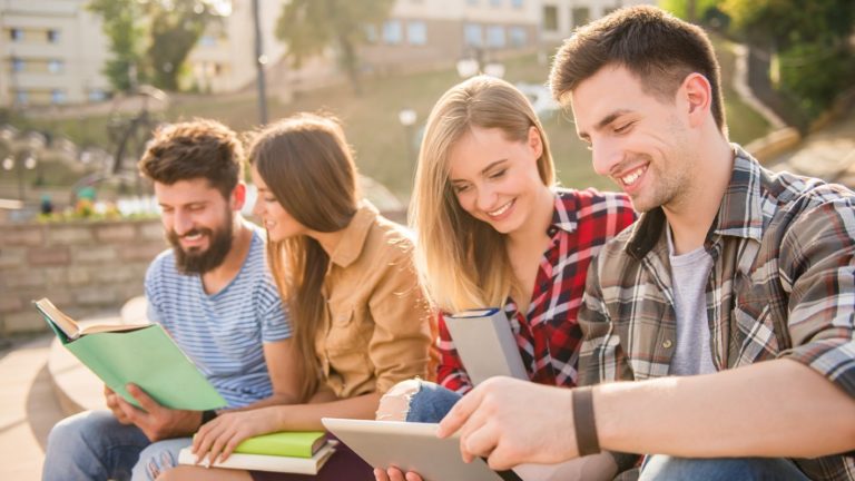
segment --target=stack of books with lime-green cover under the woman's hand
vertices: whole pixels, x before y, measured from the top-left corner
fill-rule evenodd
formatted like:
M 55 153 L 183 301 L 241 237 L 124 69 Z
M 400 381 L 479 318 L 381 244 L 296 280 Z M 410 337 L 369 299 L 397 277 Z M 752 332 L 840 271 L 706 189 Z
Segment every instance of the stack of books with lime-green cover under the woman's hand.
M 223 462 L 205 459 L 199 465 L 210 468 L 317 474 L 335 452 L 337 442 L 327 440 L 323 431 L 276 432 L 244 440 Z M 178 463 L 196 464 L 196 454 L 185 448 Z

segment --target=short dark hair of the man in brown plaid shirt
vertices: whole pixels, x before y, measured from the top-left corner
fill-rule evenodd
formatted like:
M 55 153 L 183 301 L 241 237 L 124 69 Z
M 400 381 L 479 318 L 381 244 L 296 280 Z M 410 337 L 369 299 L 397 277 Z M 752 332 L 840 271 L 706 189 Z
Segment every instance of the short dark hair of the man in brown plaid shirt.
M 562 101 L 607 65 L 627 68 L 645 91 L 667 101 L 674 100 L 686 76 L 702 75 L 712 86 L 712 118 L 725 131 L 721 73 L 712 45 L 699 27 L 650 6 L 627 7 L 580 27 L 556 55 L 552 96 Z

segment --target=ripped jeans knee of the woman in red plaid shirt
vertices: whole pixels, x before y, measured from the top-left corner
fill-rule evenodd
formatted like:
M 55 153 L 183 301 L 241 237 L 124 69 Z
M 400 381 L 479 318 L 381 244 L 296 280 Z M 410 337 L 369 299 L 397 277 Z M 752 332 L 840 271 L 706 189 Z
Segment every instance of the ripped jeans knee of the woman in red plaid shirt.
M 454 391 L 429 381 L 402 381 L 380 400 L 377 420 L 438 423 L 460 399 Z

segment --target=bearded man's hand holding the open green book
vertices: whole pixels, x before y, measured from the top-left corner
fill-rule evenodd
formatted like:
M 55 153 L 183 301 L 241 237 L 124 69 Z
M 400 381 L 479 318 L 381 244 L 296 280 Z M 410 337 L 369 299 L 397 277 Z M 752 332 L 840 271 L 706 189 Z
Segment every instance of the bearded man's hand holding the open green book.
M 179 411 L 164 408 L 136 384 L 128 384 L 127 390 L 142 409 L 138 409 L 121 396 L 116 395 L 116 405 L 124 416 L 117 415 L 116 418 L 119 422 L 124 422 L 122 419 L 125 419 L 128 423 L 136 424 L 151 442 L 189 436 L 196 432 L 199 423 L 202 423 L 200 411 Z M 116 410 L 114 410 L 115 412 Z

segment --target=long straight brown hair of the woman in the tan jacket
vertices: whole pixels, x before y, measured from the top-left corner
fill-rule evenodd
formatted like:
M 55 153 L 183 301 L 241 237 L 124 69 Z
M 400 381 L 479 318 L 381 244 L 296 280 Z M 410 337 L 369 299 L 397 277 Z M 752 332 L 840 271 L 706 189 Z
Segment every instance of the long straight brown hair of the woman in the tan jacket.
M 298 114 L 257 132 L 249 163 L 294 219 L 321 233 L 341 230 L 357 209 L 356 166 L 337 121 Z M 315 334 L 324 318 L 322 294 L 330 256 L 312 237 L 267 242 L 267 261 L 291 310 L 301 369 L 303 401 L 320 382 Z

